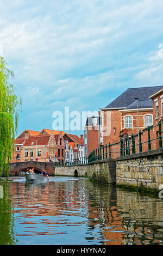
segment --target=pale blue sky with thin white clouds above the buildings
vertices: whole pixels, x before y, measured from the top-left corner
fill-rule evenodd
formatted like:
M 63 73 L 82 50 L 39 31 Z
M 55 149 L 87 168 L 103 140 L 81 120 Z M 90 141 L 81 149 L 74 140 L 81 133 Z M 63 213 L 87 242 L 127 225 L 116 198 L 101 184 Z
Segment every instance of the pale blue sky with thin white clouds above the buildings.
M 162 13 L 162 0 L 0 0 L 0 54 L 22 98 L 17 135 L 54 129 L 65 107 L 82 117 L 127 88 L 163 85 Z

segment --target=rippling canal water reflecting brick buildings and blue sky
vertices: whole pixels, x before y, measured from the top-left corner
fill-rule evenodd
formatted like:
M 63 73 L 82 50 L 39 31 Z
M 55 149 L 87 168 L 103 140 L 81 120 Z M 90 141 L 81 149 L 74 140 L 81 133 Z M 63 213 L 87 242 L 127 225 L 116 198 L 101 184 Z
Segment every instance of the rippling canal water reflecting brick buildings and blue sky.
M 84 178 L 1 180 L 0 245 L 163 245 L 163 199 Z

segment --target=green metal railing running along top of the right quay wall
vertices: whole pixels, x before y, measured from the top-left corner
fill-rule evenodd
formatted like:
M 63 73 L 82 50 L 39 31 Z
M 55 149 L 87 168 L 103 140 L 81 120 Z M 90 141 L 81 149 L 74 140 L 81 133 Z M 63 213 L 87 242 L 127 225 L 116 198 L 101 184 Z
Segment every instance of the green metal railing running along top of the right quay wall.
M 162 124 L 148 126 L 143 131 L 133 134 L 129 137 L 122 138 L 116 144 L 109 143 L 103 147 L 94 149 L 88 156 L 88 162 L 115 159 L 116 157 L 128 156 L 136 153 L 142 153 L 158 148 L 162 148 Z M 155 128 L 158 128 L 156 131 Z

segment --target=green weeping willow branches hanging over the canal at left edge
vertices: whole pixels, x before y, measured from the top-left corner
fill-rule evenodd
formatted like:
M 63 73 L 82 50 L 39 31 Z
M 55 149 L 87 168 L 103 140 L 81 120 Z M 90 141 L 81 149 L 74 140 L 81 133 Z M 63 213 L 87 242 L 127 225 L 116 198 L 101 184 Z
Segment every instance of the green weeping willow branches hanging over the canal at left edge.
M 15 88 L 10 83 L 13 78 L 14 73 L 0 56 L 0 176 L 2 172 L 8 176 L 21 105 L 21 99 L 18 100 Z

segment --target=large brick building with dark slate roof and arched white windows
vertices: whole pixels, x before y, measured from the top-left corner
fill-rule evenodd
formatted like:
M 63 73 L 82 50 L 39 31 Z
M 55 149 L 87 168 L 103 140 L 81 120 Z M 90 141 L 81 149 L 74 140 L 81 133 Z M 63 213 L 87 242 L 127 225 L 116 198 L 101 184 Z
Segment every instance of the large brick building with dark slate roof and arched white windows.
M 102 111 L 103 144 L 120 142 L 123 130 L 127 135 L 136 134 L 137 99 L 139 103 L 139 129 L 145 129 L 147 124 L 153 124 L 151 94 L 155 94 L 162 86 L 129 88 L 114 101 L 109 103 Z

